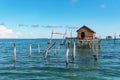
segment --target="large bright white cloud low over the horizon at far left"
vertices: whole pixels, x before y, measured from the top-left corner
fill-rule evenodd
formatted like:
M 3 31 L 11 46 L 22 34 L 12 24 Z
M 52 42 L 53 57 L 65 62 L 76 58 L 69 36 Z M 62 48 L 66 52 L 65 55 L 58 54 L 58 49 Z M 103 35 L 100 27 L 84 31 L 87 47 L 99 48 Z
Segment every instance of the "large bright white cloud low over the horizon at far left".
M 8 29 L 5 25 L 0 25 L 0 38 L 18 38 L 21 35 L 20 32 L 13 32 L 12 29 Z

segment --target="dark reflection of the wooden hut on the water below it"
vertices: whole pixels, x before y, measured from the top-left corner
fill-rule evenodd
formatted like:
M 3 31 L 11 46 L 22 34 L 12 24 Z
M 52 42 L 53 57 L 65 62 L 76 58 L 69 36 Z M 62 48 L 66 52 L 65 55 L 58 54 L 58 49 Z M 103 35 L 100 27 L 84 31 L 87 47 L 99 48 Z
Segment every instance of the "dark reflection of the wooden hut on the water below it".
M 93 65 L 97 67 L 97 60 L 93 60 L 93 54 L 98 54 L 98 50 L 96 53 L 93 53 L 91 49 L 77 49 L 78 54 L 77 61 L 79 67 L 92 67 Z

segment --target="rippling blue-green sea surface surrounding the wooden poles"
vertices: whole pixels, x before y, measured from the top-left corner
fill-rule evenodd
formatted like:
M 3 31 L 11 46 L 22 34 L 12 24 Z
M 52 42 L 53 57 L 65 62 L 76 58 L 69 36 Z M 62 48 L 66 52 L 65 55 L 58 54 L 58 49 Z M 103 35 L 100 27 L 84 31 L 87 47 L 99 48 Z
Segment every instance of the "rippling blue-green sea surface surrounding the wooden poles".
M 76 48 L 76 57 L 72 60 L 70 49 L 68 65 L 65 62 L 66 46 L 58 49 L 60 39 L 52 41 L 52 44 L 56 42 L 56 54 L 51 48 L 44 58 L 47 42 L 48 39 L 0 39 L 0 80 L 120 80 L 120 40 L 116 43 L 101 40 L 97 61 L 88 48 Z

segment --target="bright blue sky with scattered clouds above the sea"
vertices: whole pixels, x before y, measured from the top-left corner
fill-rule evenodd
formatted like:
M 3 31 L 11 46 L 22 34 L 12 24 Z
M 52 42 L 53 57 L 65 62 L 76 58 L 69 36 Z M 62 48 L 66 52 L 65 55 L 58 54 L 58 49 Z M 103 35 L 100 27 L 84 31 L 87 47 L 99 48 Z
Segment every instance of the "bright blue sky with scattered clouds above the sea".
M 0 38 L 76 36 L 86 25 L 96 36 L 120 34 L 120 0 L 0 0 Z M 55 35 L 54 38 L 62 38 Z

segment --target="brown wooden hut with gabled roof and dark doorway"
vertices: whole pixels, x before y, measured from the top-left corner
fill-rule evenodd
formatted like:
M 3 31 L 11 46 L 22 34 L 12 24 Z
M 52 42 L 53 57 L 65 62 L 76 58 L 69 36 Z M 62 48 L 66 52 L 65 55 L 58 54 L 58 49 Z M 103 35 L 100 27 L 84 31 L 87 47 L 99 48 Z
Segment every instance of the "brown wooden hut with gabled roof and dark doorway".
M 77 38 L 80 40 L 92 40 L 95 39 L 95 33 L 92 29 L 84 25 L 77 30 Z

